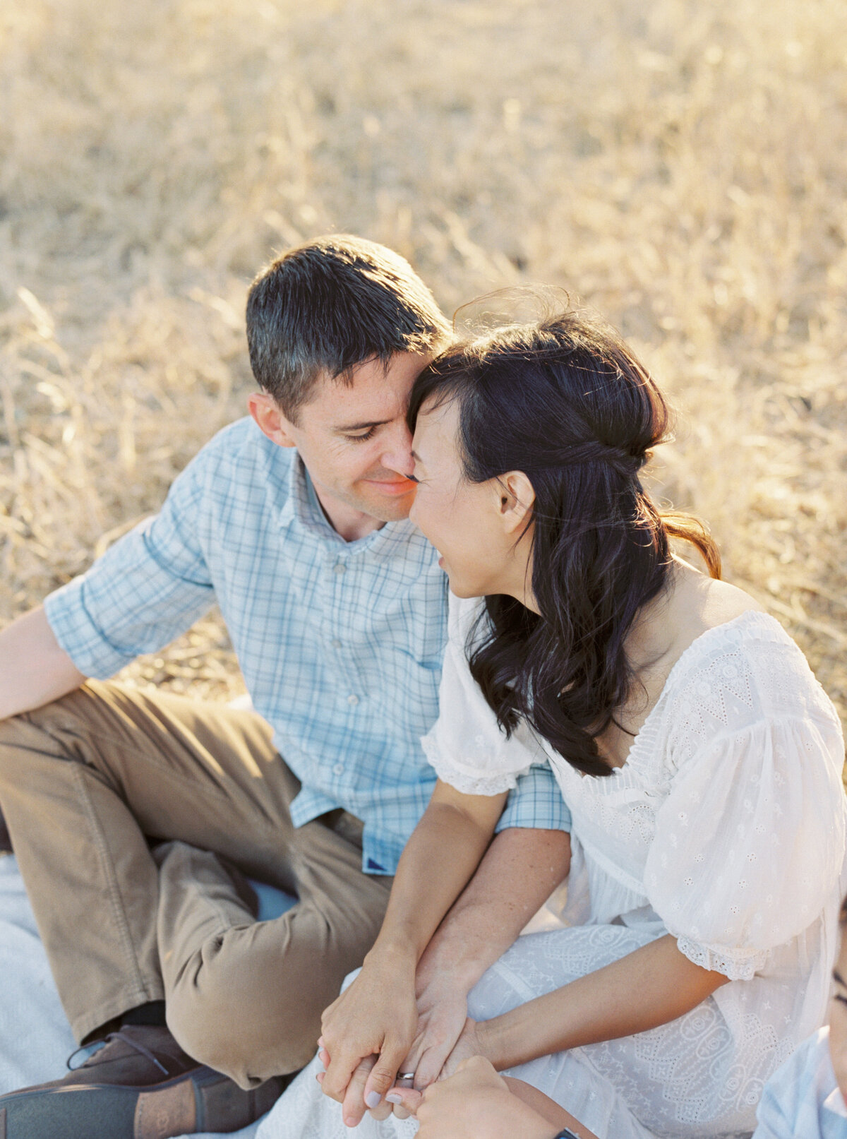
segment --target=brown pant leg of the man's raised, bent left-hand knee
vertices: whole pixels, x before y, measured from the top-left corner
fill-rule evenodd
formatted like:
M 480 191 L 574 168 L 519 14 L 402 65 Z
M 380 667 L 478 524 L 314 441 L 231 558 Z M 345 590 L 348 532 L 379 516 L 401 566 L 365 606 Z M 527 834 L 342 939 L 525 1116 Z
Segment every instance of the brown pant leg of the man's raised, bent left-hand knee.
M 0 723 L 0 803 L 79 1040 L 166 995 L 145 836 L 291 891 L 297 789 L 264 721 L 221 705 L 92 681 Z

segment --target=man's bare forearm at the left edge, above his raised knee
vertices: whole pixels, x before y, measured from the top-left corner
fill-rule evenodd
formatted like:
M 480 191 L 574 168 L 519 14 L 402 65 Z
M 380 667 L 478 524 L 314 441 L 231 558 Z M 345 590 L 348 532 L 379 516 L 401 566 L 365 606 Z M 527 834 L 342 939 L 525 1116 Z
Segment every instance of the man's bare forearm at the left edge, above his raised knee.
M 49 704 L 84 680 L 41 606 L 0 632 L 0 720 Z

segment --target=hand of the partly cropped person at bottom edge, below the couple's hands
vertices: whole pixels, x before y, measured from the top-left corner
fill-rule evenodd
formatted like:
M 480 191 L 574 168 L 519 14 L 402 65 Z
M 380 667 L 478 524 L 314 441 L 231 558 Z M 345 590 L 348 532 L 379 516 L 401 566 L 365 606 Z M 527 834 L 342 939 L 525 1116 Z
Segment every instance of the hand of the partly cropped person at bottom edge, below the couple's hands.
M 417 1115 L 418 1139 L 553 1139 L 558 1130 L 513 1096 L 479 1056 L 462 1060 L 455 1075 L 424 1092 L 394 1088 L 387 1099 Z

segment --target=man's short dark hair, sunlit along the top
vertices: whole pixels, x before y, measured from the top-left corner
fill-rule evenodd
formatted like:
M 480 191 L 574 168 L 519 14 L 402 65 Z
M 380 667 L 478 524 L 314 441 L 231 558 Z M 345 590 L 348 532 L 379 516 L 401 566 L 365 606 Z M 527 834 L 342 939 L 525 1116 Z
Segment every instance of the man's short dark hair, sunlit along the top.
M 247 296 L 253 375 L 291 423 L 321 376 L 351 384 L 360 363 L 431 353 L 450 335 L 409 262 L 350 233 L 289 249 L 262 270 Z

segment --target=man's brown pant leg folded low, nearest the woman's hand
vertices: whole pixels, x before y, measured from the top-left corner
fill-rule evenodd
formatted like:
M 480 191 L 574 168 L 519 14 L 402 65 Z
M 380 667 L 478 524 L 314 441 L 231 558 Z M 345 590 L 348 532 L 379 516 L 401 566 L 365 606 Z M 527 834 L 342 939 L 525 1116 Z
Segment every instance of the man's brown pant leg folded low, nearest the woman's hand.
M 271 921 L 253 920 L 214 855 L 181 843 L 159 855 L 167 1024 L 242 1088 L 312 1058 L 321 1013 L 379 932 L 393 879 L 363 874 L 361 825 L 352 829 L 315 821 L 296 833 L 299 902 Z

